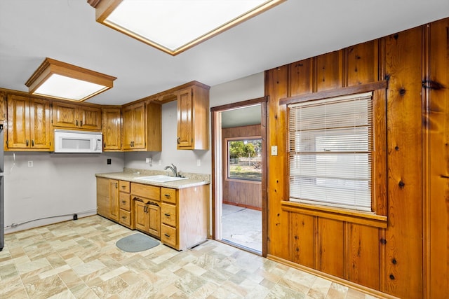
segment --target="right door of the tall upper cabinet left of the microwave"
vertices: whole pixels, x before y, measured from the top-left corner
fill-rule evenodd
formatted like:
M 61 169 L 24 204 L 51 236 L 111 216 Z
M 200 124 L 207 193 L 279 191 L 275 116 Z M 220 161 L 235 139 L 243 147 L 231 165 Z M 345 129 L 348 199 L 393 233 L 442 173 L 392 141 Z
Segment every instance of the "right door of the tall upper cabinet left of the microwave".
M 50 102 L 45 99 L 30 99 L 29 138 L 31 148 L 51 148 Z

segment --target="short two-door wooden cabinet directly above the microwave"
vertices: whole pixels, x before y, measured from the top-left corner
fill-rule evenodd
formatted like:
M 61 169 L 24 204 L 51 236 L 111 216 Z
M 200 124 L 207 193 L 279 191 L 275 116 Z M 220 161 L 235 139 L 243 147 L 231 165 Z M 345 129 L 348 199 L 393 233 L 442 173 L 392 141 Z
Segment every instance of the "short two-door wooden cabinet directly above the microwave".
M 53 102 L 53 126 L 101 130 L 101 109 L 91 106 Z

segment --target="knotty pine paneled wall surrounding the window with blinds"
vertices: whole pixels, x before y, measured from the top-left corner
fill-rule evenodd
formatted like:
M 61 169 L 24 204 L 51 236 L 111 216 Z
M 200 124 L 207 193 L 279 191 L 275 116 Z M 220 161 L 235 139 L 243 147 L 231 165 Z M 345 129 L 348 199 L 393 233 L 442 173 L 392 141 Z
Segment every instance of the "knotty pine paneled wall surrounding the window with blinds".
M 388 81 L 383 160 L 374 165 L 387 228 L 282 209 L 287 114 L 279 99 Z M 449 18 L 265 72 L 268 256 L 399 298 L 449 290 Z M 373 199 L 376 202 L 376 198 Z M 383 204 L 386 202 L 386 205 Z M 383 204 L 383 205 L 382 205 Z

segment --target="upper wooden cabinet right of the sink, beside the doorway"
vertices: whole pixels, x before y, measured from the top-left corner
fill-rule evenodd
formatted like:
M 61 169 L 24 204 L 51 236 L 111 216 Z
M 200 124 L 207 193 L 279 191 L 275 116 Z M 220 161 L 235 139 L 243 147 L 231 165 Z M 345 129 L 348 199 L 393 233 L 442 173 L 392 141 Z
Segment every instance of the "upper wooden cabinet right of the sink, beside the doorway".
M 209 88 L 194 83 L 177 93 L 177 149 L 209 149 Z

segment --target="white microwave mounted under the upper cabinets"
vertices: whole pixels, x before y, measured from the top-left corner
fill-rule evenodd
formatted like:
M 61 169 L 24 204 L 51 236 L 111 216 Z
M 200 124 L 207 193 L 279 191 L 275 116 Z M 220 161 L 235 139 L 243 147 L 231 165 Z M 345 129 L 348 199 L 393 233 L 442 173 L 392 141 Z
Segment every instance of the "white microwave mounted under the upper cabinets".
M 55 130 L 55 153 L 101 153 L 101 132 Z

